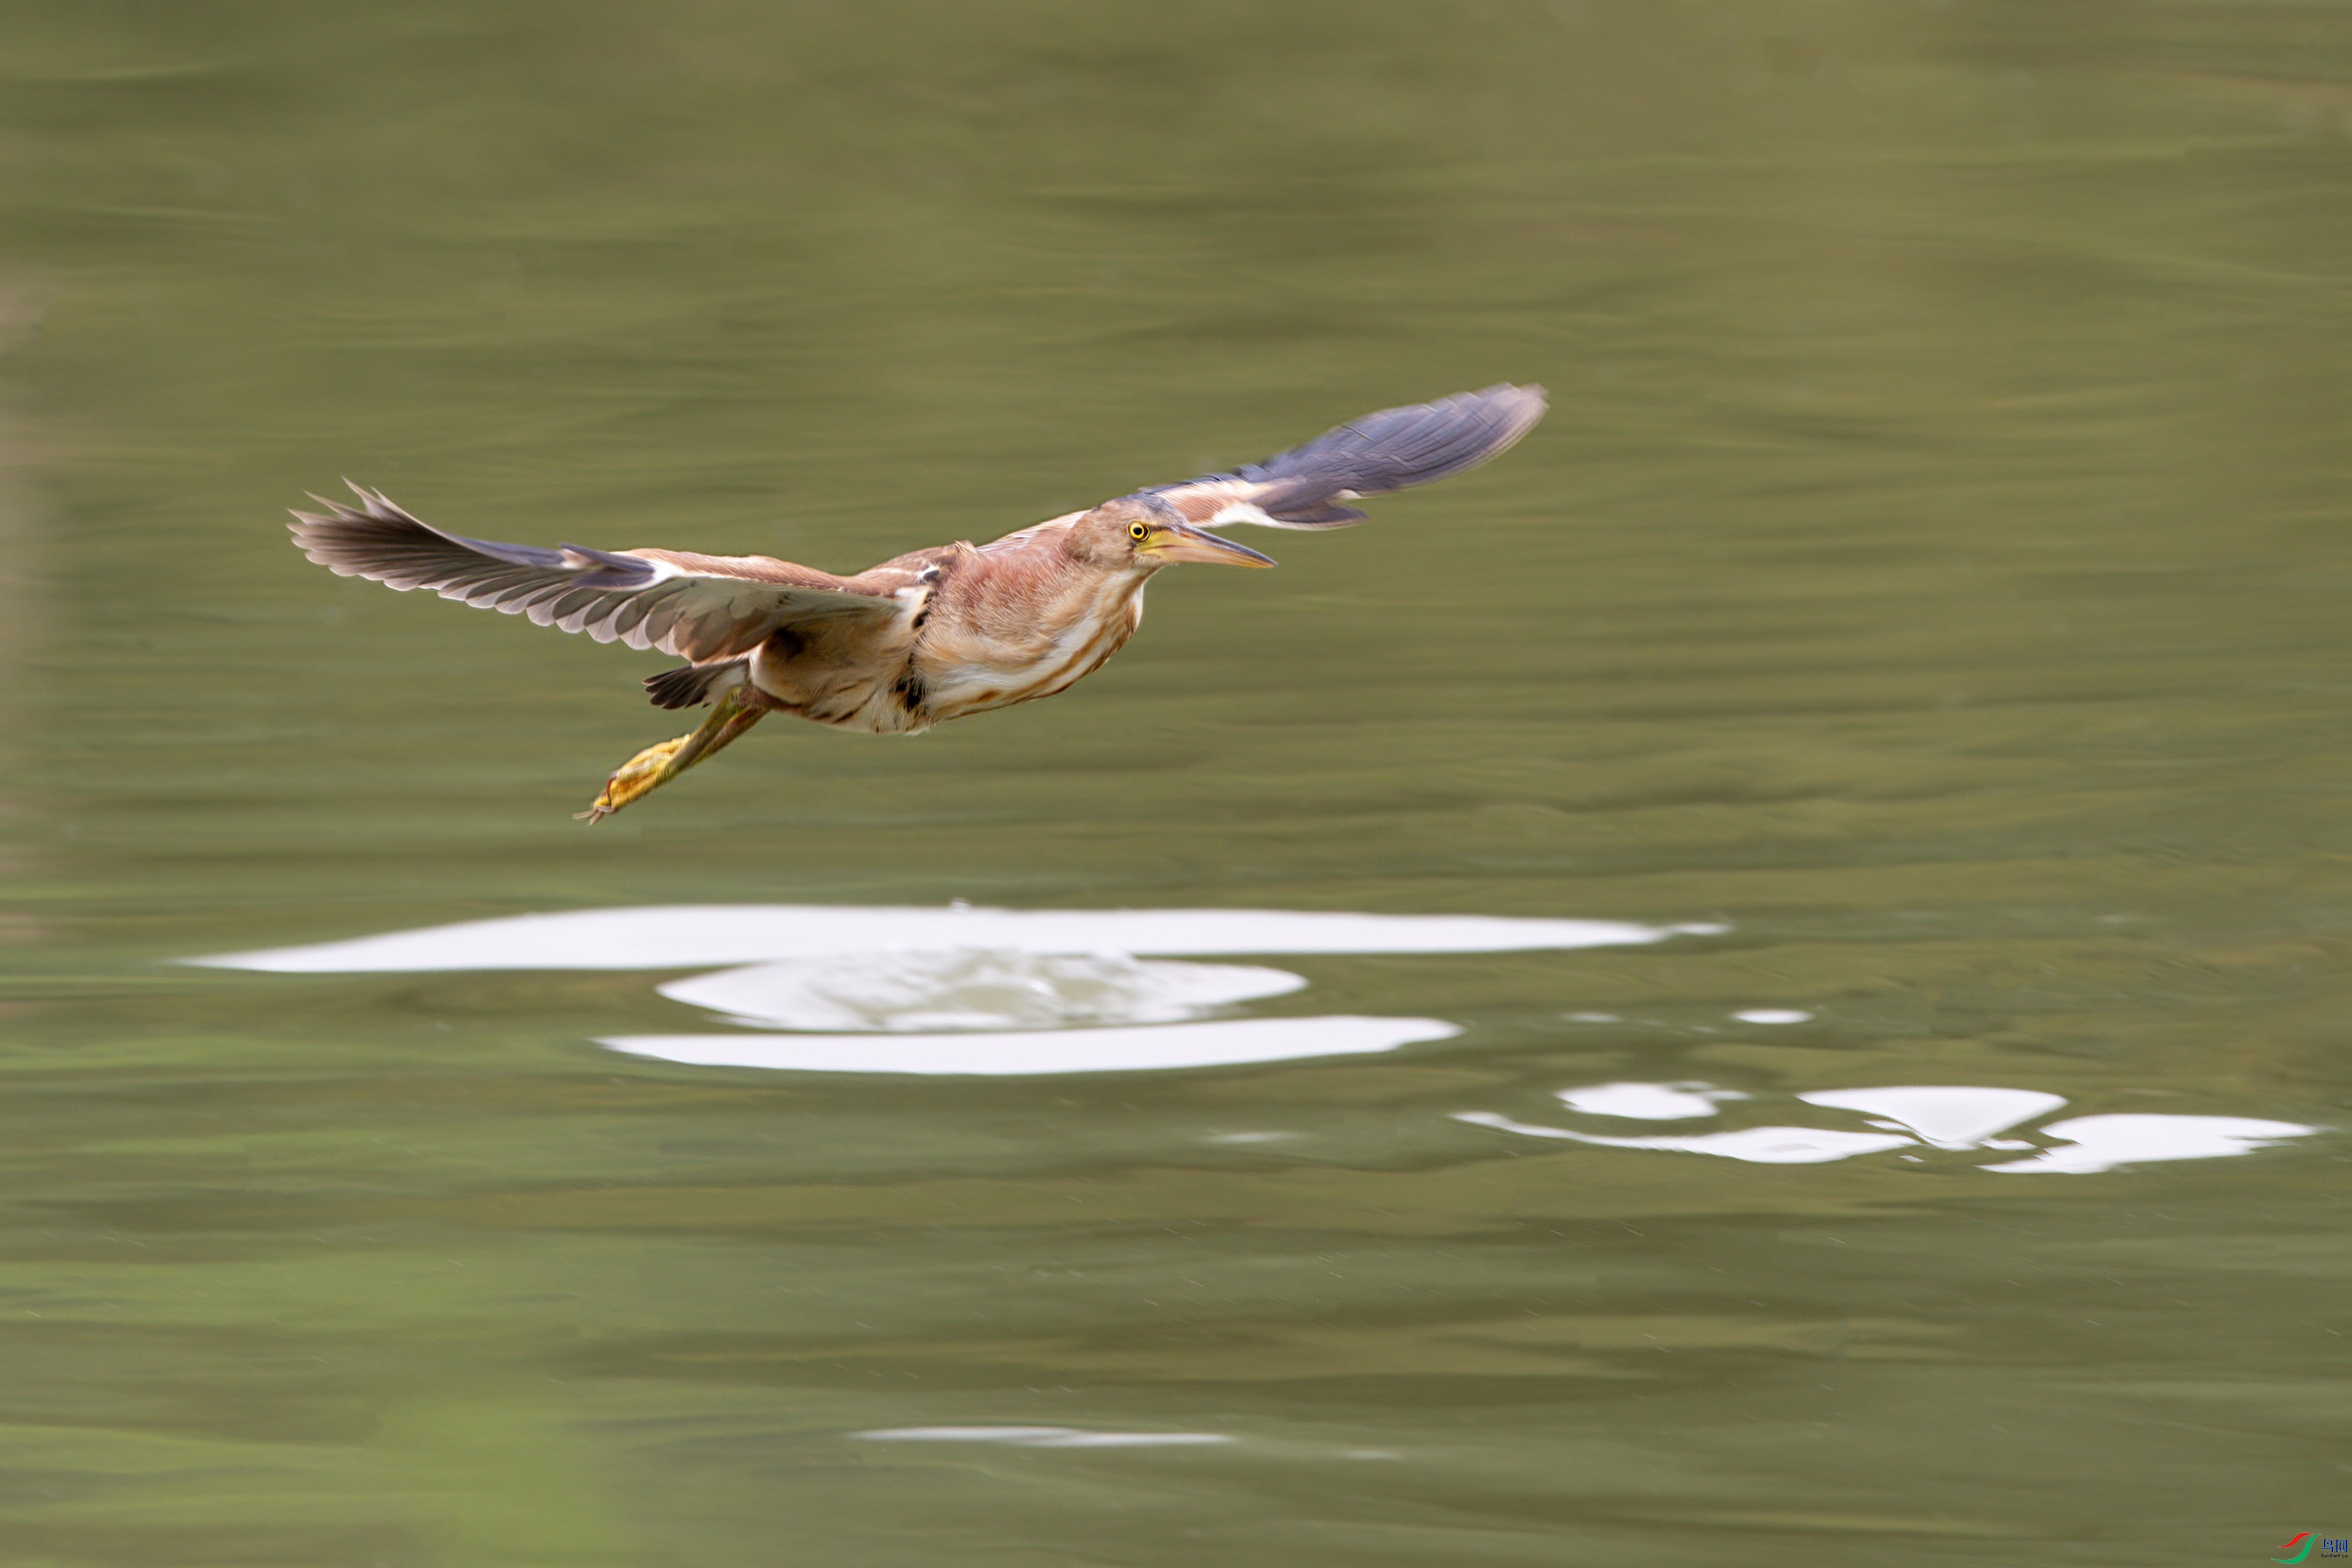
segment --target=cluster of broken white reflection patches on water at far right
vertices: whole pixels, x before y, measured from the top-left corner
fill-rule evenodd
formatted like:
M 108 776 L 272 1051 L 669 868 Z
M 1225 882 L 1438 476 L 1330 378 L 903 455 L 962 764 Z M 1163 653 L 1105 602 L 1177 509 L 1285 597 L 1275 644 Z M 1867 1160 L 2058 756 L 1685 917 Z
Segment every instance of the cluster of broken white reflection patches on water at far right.
M 1599 1084 L 1595 1088 L 1569 1088 L 1559 1098 L 1571 1110 L 1602 1114 L 1653 1114 L 1639 1110 L 1604 1110 L 1604 1103 L 1668 1105 L 1672 1100 L 1700 1100 L 1689 1093 L 1691 1084 Z M 1635 1095 L 1635 1091 L 1649 1091 Z M 1724 1098 L 1717 1091 L 1717 1098 Z M 2009 1126 L 2032 1117 L 2046 1117 L 2065 1105 L 2063 1095 L 2034 1088 L 1978 1088 L 1978 1086 L 1886 1086 L 1886 1088 L 1816 1088 L 1797 1095 L 1806 1105 L 1830 1110 L 1858 1110 L 1879 1117 L 1872 1126 L 1884 1133 L 1839 1133 L 1811 1126 L 1750 1126 L 1731 1133 L 1700 1133 L 1686 1138 L 1604 1138 L 1578 1133 L 1564 1126 L 1541 1126 L 1512 1121 L 1494 1112 L 1456 1112 L 1456 1121 L 1491 1126 L 1522 1138 L 1559 1138 L 1566 1143 L 1590 1143 L 1611 1150 L 1668 1150 L 1677 1154 L 1717 1154 L 1769 1166 L 1811 1166 L 1856 1154 L 1882 1154 L 1886 1150 L 1915 1150 L 1922 1143 L 1938 1150 L 2030 1150 L 2032 1143 L 2018 1138 L 1994 1138 Z M 1712 1105 L 1708 1105 L 1712 1112 Z M 1705 1112 L 1675 1112 L 1705 1114 Z M 1900 1131 L 1893 1131 L 1900 1128 Z M 2293 1121 L 2256 1121 L 2249 1117 L 2074 1117 L 2042 1128 L 2049 1138 L 2063 1138 L 2067 1147 L 2042 1150 L 2032 1159 L 2011 1159 L 1980 1171 L 2002 1173 L 2067 1173 L 2086 1175 L 2114 1171 L 2117 1166 L 2157 1159 L 2223 1159 L 2267 1150 L 2286 1138 L 2303 1138 L 2324 1128 Z M 1905 1135 L 1910 1133 L 1910 1135 Z M 1915 1159 L 1905 1154 L 1903 1159 Z

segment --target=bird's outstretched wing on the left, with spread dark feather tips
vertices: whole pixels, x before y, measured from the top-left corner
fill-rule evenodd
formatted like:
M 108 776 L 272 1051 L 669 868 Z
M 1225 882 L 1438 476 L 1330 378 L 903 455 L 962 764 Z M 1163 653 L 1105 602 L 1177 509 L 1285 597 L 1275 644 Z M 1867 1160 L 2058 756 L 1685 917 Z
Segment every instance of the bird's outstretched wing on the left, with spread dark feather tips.
M 501 545 L 442 534 L 383 491 L 350 487 L 360 505 L 313 496 L 325 512 L 294 512 L 294 543 L 336 576 L 529 616 L 597 642 L 708 661 L 748 654 L 783 625 L 898 611 L 887 588 L 764 555 Z

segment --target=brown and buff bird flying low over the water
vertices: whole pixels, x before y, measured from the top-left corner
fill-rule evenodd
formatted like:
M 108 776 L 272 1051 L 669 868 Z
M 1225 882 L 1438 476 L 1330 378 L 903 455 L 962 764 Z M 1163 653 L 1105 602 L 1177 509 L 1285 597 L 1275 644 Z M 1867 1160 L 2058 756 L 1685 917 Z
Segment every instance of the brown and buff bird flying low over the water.
M 1272 567 L 1209 524 L 1345 529 L 1343 501 L 1484 463 L 1543 418 L 1541 386 L 1491 386 L 1383 409 L 1263 463 L 1155 484 L 974 545 L 913 550 L 856 576 L 764 555 L 501 545 L 445 534 L 383 491 L 294 512 L 294 543 L 339 576 L 430 588 L 597 642 L 687 663 L 644 682 L 659 708 L 713 705 L 694 733 L 604 780 L 583 820 L 677 778 L 769 712 L 917 736 L 946 719 L 1054 696 L 1101 670 L 1174 562 Z

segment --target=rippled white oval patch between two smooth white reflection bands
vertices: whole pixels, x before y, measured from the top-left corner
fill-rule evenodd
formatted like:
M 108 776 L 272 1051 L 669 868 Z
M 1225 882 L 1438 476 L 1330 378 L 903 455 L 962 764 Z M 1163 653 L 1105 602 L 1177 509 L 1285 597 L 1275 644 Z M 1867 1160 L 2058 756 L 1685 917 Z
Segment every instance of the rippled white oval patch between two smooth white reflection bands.
M 1279 969 L 1124 952 L 866 952 L 722 969 L 661 994 L 771 1030 L 1051 1030 L 1181 1023 L 1301 990 Z

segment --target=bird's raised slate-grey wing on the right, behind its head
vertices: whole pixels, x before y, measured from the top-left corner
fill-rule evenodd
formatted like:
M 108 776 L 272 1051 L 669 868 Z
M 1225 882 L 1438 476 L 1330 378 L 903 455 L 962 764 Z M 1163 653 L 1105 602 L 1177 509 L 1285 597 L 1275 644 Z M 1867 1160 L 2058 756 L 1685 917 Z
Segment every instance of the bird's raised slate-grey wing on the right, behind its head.
M 1185 522 L 1254 522 L 1268 529 L 1345 529 L 1364 512 L 1338 501 L 1432 484 L 1508 451 L 1543 418 L 1541 386 L 1489 386 L 1409 409 L 1352 418 L 1263 463 L 1155 484 Z

